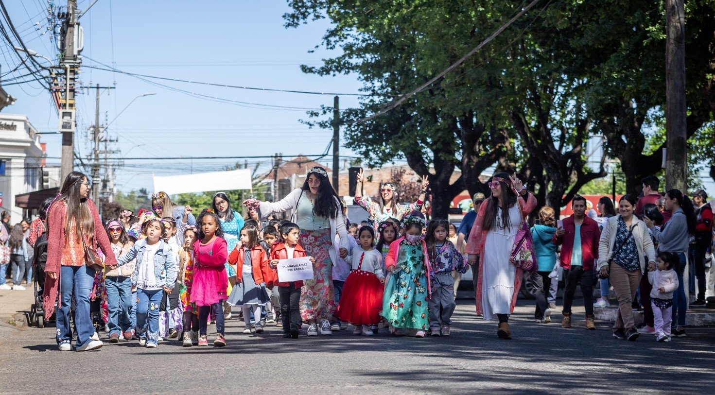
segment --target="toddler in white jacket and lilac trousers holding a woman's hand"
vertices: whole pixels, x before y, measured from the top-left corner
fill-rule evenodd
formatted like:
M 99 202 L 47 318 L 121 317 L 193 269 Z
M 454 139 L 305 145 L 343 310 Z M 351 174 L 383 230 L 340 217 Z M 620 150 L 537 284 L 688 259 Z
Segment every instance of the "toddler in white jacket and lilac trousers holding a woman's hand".
M 653 306 L 656 341 L 670 341 L 673 292 L 678 289 L 678 275 L 674 268 L 678 263 L 676 254 L 661 252 L 658 254 L 658 270 L 648 272 L 648 281 L 653 285 L 651 306 Z

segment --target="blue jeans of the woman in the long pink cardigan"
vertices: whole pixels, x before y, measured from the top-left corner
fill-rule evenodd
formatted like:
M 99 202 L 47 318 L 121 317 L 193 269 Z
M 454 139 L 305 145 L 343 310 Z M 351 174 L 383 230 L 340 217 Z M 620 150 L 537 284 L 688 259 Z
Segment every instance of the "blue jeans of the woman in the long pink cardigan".
M 89 316 L 89 293 L 94 284 L 94 270 L 87 266 L 60 266 L 59 302 L 56 314 L 57 344 L 69 343 L 72 331 L 69 328 L 69 311 L 74 292 L 74 326 L 77 328 L 77 343 L 81 347 L 92 341 L 94 325 Z

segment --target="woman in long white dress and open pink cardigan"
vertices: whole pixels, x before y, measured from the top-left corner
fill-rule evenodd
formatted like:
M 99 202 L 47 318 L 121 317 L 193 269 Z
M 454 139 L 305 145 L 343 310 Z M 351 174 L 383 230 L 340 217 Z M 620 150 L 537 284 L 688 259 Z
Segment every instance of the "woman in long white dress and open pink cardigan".
M 495 174 L 489 188 L 491 196 L 479 207 L 466 251 L 470 265 L 480 256 L 477 314 L 483 314 L 484 319 L 499 319 L 497 336 L 511 339 L 509 315 L 516 305 L 523 270 L 511 264 L 509 256 L 521 222 L 536 207 L 536 198 L 516 173 Z

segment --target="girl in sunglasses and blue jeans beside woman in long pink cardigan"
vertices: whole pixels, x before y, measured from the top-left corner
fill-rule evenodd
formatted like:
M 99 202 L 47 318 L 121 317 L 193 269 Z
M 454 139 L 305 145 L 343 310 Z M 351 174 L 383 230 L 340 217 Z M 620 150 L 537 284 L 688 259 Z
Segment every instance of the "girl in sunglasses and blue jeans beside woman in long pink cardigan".
M 119 258 L 129 251 L 134 241 L 129 237 L 119 219 L 110 219 L 107 222 L 107 236 L 112 245 L 114 257 Z M 132 340 L 132 273 L 134 261 L 129 264 L 110 270 L 104 268 L 104 286 L 107 290 L 107 327 L 109 329 L 109 343 L 117 343 L 119 335 L 124 340 Z

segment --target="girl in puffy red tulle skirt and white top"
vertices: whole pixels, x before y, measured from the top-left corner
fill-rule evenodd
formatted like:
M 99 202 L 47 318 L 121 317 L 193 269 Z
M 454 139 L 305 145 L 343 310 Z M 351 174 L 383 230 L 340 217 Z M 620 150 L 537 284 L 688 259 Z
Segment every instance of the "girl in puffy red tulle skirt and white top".
M 360 245 L 345 257 L 345 261 L 352 264 L 352 271 L 345 280 L 335 316 L 355 325 L 352 334 L 373 336 L 370 326 L 380 321 L 383 308 L 383 255 L 373 249 L 375 230 L 372 226 L 358 230 L 358 243 Z

